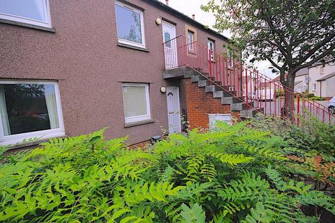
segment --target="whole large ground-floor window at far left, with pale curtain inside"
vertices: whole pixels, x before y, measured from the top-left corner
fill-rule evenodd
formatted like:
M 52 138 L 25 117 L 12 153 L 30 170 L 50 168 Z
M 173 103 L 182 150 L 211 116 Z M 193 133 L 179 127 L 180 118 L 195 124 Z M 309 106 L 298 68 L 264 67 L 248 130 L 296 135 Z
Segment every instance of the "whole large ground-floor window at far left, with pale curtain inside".
M 0 81 L 0 144 L 64 135 L 57 82 Z

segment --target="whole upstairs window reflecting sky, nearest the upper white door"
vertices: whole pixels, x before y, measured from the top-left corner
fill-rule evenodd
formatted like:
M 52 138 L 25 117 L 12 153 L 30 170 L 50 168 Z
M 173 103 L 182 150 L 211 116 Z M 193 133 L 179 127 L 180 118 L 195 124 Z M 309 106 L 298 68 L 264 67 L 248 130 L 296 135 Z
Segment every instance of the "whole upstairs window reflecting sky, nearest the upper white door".
M 119 43 L 145 47 L 143 12 L 119 1 L 115 2 Z

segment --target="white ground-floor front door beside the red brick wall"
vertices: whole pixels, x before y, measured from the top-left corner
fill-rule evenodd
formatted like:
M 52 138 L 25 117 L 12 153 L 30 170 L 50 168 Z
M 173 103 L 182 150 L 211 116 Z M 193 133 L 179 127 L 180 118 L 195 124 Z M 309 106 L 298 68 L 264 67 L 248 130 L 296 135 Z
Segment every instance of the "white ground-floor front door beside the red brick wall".
M 179 87 L 169 86 L 166 88 L 168 101 L 169 133 L 181 132 L 181 117 L 179 105 Z

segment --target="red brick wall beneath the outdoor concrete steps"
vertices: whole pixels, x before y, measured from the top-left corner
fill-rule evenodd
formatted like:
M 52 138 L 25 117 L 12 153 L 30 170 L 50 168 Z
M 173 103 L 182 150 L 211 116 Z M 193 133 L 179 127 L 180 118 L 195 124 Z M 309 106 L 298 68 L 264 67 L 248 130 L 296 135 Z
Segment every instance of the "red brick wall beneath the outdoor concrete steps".
M 187 120 L 192 128 L 208 128 L 208 114 L 232 114 L 239 119 L 239 112 L 230 112 L 230 105 L 222 105 L 221 98 L 213 98 L 213 93 L 206 93 L 204 87 L 199 88 L 198 82 L 192 83 L 191 78 L 183 79 L 185 85 Z

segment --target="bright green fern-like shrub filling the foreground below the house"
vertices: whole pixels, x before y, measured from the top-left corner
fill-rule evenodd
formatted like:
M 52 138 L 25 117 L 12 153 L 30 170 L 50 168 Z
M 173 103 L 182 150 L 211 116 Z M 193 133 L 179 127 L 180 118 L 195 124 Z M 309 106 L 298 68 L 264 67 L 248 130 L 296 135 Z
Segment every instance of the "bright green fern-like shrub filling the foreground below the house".
M 332 197 L 299 180 L 317 172 L 290 158 L 296 148 L 251 127 L 170 134 L 147 151 L 101 130 L 2 157 L 0 221 L 318 222 L 301 205 L 335 213 Z

